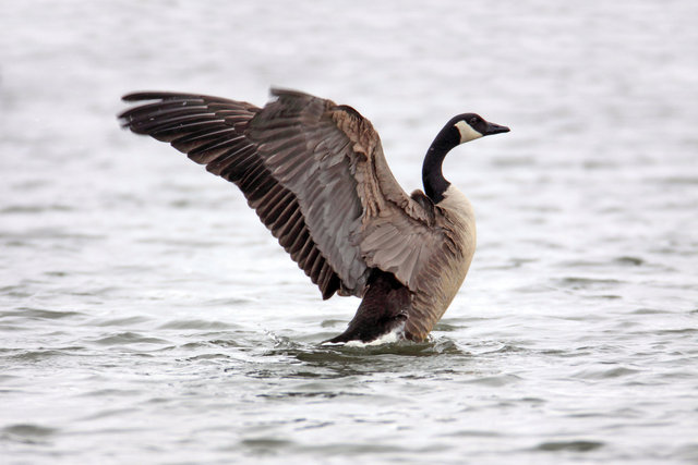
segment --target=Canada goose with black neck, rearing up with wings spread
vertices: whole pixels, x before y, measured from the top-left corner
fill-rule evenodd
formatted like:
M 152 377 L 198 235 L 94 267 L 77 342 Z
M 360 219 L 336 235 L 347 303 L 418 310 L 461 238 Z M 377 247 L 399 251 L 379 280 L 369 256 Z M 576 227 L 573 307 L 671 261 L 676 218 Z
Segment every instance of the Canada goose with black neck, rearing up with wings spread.
M 347 330 L 327 342 L 389 332 L 423 341 L 462 284 L 476 248 L 472 207 L 442 174 L 446 154 L 509 129 L 478 114 L 453 118 L 408 196 L 378 134 L 357 110 L 272 89 L 264 108 L 218 97 L 135 93 L 155 102 L 119 115 L 123 127 L 168 142 L 240 187 L 248 204 L 322 296 L 363 297 Z

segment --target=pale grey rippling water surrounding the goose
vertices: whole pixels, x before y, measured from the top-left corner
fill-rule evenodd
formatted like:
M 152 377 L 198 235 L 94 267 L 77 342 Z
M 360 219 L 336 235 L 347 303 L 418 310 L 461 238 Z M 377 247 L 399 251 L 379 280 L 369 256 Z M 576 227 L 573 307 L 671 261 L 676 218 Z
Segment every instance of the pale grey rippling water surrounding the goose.
M 0 462 L 698 461 L 691 1 L 4 2 Z M 354 106 L 406 189 L 453 114 L 479 248 L 422 344 L 322 346 L 232 185 L 120 95 Z

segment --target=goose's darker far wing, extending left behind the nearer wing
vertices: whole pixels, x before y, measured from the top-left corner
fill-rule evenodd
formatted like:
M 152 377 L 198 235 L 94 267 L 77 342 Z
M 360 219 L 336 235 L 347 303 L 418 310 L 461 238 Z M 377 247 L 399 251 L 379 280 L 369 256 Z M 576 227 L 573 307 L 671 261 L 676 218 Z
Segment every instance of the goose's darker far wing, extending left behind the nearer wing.
M 293 193 L 270 175 L 257 146 L 244 135 L 260 109 L 253 105 L 189 94 L 139 93 L 125 101 L 156 100 L 119 115 L 123 125 L 170 143 L 243 192 L 279 244 L 329 298 L 340 280 L 311 238 Z

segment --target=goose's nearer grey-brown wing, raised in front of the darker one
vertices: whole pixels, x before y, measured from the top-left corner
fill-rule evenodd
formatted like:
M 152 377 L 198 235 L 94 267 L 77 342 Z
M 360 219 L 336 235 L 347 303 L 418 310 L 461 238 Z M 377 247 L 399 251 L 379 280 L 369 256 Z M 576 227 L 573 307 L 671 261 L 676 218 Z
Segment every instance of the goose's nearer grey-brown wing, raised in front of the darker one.
M 362 295 L 366 271 L 380 268 L 417 291 L 420 280 L 438 272 L 430 268 L 443 246 L 443 233 L 433 228 L 435 209 L 402 191 L 377 133 L 354 109 L 297 91 L 274 95 L 252 120 L 250 138 L 273 175 L 296 194 L 342 285 Z

